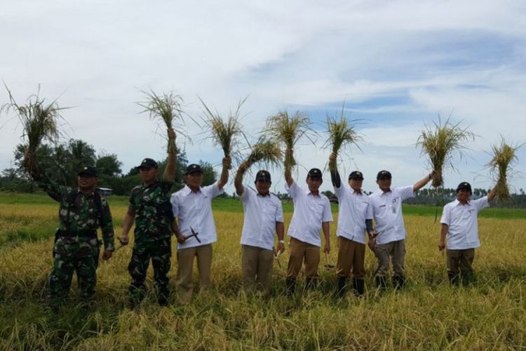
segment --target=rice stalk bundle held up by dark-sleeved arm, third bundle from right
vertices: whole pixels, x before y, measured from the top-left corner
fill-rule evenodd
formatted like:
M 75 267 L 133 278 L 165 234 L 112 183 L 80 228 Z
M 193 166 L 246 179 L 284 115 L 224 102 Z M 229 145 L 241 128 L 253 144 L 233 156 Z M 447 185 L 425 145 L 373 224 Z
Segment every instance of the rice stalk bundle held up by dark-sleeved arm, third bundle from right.
M 327 117 L 329 139 L 324 147 L 330 147 L 332 153 L 338 155 L 339 150 L 347 145 L 356 145 L 363 138 L 356 132 L 356 121 L 352 121 L 344 114 L 344 107 L 339 117 Z M 359 148 L 359 147 L 358 147 Z

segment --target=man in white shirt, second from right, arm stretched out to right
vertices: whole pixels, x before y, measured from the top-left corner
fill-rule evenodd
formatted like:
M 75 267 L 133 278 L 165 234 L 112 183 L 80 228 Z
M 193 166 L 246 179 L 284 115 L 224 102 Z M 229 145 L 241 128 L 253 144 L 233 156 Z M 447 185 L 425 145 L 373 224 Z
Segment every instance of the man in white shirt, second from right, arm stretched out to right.
M 414 192 L 429 183 L 433 172 L 414 185 L 393 187 L 391 189 L 391 173 L 379 171 L 376 183 L 379 189 L 370 194 L 372 216 L 375 218 L 377 237 L 370 240 L 378 259 L 375 274 L 377 286 L 386 288 L 386 275 L 389 261 L 393 263 L 393 286 L 401 289 L 405 285 L 405 227 L 402 216 L 402 202 L 414 197 Z M 372 242 L 371 242 L 372 241 Z

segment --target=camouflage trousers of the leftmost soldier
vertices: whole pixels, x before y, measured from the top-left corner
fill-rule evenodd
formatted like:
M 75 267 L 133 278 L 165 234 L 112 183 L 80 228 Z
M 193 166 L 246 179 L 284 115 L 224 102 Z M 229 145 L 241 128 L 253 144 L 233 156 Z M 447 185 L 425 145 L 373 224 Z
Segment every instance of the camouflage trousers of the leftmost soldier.
M 60 305 L 69 293 L 76 272 L 81 298 L 89 300 L 95 293 L 100 246 L 97 238 L 60 237 L 55 243 L 55 260 L 49 275 L 48 297 Z

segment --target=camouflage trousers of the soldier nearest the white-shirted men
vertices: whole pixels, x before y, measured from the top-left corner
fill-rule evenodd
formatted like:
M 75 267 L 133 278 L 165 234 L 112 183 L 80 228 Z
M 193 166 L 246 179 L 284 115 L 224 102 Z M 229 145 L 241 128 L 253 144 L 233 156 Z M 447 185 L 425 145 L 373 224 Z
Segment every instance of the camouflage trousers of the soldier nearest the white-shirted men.
M 130 283 L 130 298 L 133 304 L 144 299 L 146 286 L 144 280 L 151 259 L 154 267 L 154 285 L 157 300 L 161 305 L 166 305 L 170 290 L 168 289 L 167 274 L 170 271 L 170 257 L 172 256 L 171 238 L 159 239 L 150 242 L 135 242 L 132 258 L 128 265 L 128 272 L 132 278 Z

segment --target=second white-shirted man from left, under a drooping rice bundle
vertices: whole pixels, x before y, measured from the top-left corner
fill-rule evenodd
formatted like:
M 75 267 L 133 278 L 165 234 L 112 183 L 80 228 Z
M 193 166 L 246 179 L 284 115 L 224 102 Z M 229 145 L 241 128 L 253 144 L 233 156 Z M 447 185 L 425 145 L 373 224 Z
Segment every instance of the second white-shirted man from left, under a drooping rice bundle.
M 281 201 L 269 192 L 271 176 L 268 171 L 258 171 L 255 187 L 243 186 L 246 164 L 239 166 L 234 187 L 243 201 L 245 220 L 241 234 L 241 270 L 243 289 L 250 293 L 257 289 L 268 295 L 271 286 L 274 252 L 285 250 L 283 233 L 283 207 Z M 278 247 L 274 249 L 274 232 L 278 236 Z

